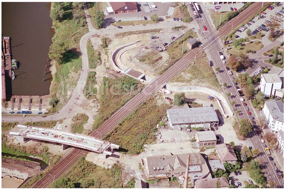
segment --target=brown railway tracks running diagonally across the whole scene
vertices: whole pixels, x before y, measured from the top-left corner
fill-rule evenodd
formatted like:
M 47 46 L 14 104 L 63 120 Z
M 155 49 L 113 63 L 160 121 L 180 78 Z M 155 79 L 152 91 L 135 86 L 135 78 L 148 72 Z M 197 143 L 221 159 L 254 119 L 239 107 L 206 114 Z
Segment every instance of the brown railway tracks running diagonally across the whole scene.
M 158 76 L 152 83 L 148 84 L 140 93 L 135 95 L 130 101 L 128 101 L 124 106 L 118 109 L 109 119 L 107 119 L 96 131 L 93 131 L 90 135 L 100 138 L 101 135 L 105 135 L 112 130 L 113 127 L 117 125 L 122 119 L 129 115 L 140 103 L 142 103 L 146 97 L 148 98 L 158 89 L 163 87 L 174 75 L 182 71 L 189 63 L 194 59 L 195 54 L 200 54 L 204 52 L 204 49 L 209 47 L 215 40 L 221 36 L 228 34 L 233 28 L 238 27 L 247 19 L 251 14 L 258 12 L 262 7 L 262 3 L 256 2 L 252 3 L 247 9 L 239 13 L 235 18 L 231 19 L 225 23 L 219 30 L 211 32 L 206 36 L 201 42 L 207 44 L 206 46 L 199 47 L 195 52 L 190 52 L 185 55 L 182 59 L 174 63 L 165 73 Z M 251 10 L 251 11 L 249 11 Z M 72 165 L 76 159 L 84 155 L 87 151 L 81 149 L 72 148 L 65 157 L 63 157 L 50 171 L 49 174 L 45 174 L 43 178 L 38 180 L 33 184 L 33 188 L 45 188 L 49 183 L 53 182 L 53 177 L 55 179 L 59 177 L 65 169 Z M 51 176 L 52 175 L 52 176 Z

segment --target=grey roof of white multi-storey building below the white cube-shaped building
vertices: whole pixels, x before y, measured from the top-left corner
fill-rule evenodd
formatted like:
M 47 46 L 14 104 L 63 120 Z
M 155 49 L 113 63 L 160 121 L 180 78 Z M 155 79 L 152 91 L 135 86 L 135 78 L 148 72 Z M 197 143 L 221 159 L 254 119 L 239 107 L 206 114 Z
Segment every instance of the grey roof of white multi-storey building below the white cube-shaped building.
M 265 101 L 265 105 L 269 109 L 270 115 L 275 117 L 276 120 L 284 122 L 284 104 L 281 100 L 275 99 Z

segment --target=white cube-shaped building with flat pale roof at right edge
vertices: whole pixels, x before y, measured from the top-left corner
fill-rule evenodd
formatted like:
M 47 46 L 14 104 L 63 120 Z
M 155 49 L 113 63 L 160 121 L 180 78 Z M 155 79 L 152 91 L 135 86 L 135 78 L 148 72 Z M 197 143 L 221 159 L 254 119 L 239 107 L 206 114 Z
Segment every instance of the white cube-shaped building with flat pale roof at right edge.
M 277 73 L 263 73 L 261 74 L 259 88 L 265 96 L 271 97 L 273 95 L 279 98 L 281 97 L 279 90 L 282 88 L 282 80 Z M 283 92 L 281 98 L 283 98 Z

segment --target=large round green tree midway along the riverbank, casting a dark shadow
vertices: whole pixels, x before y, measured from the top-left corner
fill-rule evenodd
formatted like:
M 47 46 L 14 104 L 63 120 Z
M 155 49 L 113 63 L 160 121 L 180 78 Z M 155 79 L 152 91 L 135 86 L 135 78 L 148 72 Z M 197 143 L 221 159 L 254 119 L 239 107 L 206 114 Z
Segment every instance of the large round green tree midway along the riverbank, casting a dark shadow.
M 63 54 L 68 50 L 68 45 L 64 42 L 55 40 L 49 49 L 49 58 L 54 59 L 57 63 L 62 63 Z

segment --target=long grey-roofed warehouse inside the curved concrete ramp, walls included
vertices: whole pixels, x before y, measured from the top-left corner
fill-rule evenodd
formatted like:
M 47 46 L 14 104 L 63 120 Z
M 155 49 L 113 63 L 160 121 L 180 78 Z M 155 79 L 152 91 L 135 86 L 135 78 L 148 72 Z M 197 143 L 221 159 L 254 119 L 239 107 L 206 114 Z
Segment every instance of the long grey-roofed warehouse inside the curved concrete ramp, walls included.
M 219 125 L 214 107 L 168 109 L 167 117 L 171 129 L 207 128 Z

